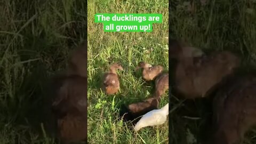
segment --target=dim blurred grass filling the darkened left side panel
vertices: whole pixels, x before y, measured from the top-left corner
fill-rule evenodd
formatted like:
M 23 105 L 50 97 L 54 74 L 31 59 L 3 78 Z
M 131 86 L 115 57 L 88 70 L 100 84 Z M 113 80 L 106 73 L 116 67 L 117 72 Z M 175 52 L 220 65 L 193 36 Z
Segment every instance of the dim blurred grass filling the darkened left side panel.
M 86 2 L 0 2 L 0 143 L 53 143 L 44 135 L 47 79 L 86 36 Z

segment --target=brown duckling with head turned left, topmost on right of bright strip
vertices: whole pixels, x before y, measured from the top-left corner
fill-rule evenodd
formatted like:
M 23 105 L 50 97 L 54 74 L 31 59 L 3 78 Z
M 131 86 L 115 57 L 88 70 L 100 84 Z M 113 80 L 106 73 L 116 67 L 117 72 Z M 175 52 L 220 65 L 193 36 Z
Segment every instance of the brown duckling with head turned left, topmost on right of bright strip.
M 138 70 L 139 68 L 143 68 L 142 77 L 146 81 L 152 81 L 153 79 L 156 78 L 156 76 L 161 74 L 162 71 L 164 70 L 164 68 L 160 65 L 151 66 L 150 64 L 143 62 L 143 61 L 139 62 L 138 66 L 135 68 L 135 70 Z

